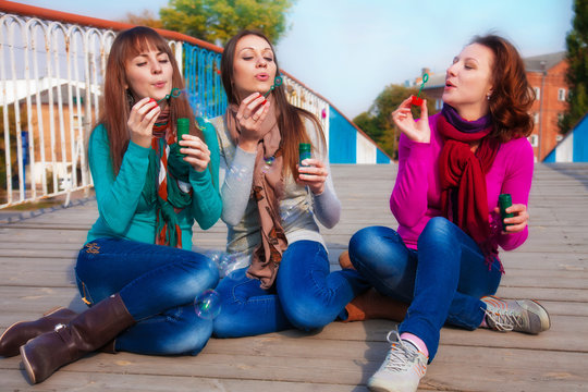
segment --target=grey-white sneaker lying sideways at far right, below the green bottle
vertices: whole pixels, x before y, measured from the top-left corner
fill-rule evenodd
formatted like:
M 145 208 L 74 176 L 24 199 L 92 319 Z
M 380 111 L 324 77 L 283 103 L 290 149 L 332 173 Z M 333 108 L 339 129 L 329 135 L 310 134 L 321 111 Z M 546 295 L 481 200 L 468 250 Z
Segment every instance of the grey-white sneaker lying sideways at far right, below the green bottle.
M 549 314 L 531 299 L 504 301 L 493 295 L 480 299 L 486 304 L 486 323 L 495 331 L 537 334 L 551 327 Z

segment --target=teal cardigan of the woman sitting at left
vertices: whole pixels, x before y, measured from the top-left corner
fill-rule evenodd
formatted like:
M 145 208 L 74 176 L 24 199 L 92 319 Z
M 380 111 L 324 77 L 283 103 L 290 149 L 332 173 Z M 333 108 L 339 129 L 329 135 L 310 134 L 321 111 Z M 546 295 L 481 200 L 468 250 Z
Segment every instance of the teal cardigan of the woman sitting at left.
M 149 150 L 150 147 L 130 142 L 119 174 L 114 176 L 107 130 L 101 124 L 94 130 L 88 145 L 88 160 L 99 217 L 88 232 L 87 242 L 117 237 L 155 243 L 156 206 L 148 204 L 142 195 Z M 191 168 L 189 183 L 194 189 L 192 206 L 177 215 L 185 249 L 192 249 L 194 220 L 206 230 L 219 220 L 222 212 L 218 186 L 213 186 L 210 171 L 197 172 Z

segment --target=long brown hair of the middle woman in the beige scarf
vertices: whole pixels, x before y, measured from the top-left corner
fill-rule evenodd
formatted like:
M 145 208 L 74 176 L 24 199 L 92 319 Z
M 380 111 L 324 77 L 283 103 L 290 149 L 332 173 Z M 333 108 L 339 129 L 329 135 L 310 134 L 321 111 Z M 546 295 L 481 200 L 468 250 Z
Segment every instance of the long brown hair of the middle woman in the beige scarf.
M 238 40 L 248 35 L 255 35 L 264 38 L 269 44 L 271 51 L 273 52 L 273 61 L 275 62 L 275 75 L 278 76 L 280 74 L 280 65 L 278 64 L 278 59 L 275 57 L 275 50 L 273 50 L 273 46 L 264 35 L 264 33 L 250 29 L 238 32 L 226 42 L 221 58 L 221 78 L 224 91 L 226 93 L 226 98 L 229 103 L 234 103 L 237 106 L 241 102 L 235 89 L 233 88 L 233 63 Z M 277 113 L 279 113 L 278 126 L 280 127 L 280 133 L 282 135 L 284 171 L 290 171 L 294 177 L 297 177 L 298 171 L 296 170 L 296 163 L 298 163 L 298 144 L 310 143 L 310 138 L 308 137 L 304 126 L 303 117 L 313 121 L 320 134 L 320 142 L 322 146 L 313 146 L 313 148 L 323 148 L 323 152 L 327 152 L 327 142 L 324 139 L 322 126 L 315 114 L 302 108 L 297 108 L 287 101 L 285 86 L 283 84 L 274 88 L 273 98 L 277 105 Z

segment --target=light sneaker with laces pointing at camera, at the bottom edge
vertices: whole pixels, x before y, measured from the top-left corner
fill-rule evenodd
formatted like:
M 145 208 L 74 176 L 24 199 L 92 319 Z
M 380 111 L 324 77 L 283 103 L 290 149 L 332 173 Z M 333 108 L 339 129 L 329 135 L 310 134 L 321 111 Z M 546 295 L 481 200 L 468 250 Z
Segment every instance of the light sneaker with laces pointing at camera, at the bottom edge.
M 394 336 L 394 340 L 390 339 Z M 429 358 L 415 345 L 402 340 L 397 331 L 390 331 L 385 338 L 392 347 L 382 366 L 368 380 L 370 391 L 414 392 L 427 371 Z

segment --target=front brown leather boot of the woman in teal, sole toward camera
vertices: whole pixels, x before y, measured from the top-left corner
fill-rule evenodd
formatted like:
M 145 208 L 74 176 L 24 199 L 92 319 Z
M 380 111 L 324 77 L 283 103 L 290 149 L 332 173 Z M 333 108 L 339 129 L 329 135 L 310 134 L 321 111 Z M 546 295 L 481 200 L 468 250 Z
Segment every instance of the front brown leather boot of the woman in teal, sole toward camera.
M 94 305 L 69 324 L 59 324 L 52 332 L 37 336 L 21 347 L 21 356 L 32 383 L 38 383 L 60 367 L 94 352 L 135 320 L 119 294 Z

